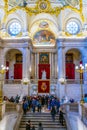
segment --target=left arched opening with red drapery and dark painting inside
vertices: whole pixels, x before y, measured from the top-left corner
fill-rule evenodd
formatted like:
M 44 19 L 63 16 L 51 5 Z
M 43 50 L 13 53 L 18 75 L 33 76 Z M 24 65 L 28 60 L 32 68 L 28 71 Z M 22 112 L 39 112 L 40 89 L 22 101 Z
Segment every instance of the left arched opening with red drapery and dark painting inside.
M 22 79 L 22 53 L 17 49 L 11 49 L 6 53 L 6 79 Z

